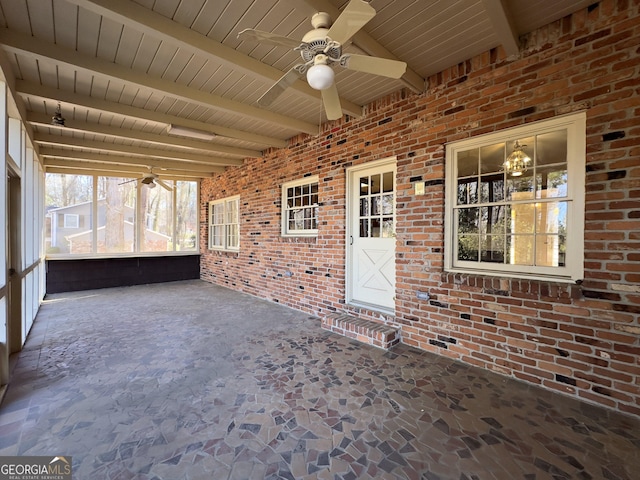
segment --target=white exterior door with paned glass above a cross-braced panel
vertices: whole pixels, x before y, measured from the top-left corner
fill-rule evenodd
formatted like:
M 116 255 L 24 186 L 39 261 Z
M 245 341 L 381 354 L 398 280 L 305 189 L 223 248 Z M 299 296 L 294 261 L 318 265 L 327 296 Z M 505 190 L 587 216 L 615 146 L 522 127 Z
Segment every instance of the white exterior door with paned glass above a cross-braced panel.
M 347 302 L 394 311 L 395 158 L 347 172 Z

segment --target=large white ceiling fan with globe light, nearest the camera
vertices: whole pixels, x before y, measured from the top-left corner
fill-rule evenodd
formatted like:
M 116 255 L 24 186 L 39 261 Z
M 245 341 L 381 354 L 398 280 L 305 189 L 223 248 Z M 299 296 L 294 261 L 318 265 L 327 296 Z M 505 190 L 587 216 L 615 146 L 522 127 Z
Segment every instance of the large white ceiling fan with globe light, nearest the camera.
M 334 81 L 333 65 L 349 70 L 372 73 L 389 78 L 400 78 L 407 69 L 405 62 L 387 58 L 342 53 L 343 46 L 376 15 L 375 9 L 364 0 L 351 0 L 340 16 L 331 23 L 328 13 L 318 12 L 311 18 L 313 30 L 302 41 L 247 28 L 238 37 L 261 43 L 289 47 L 300 52 L 304 63 L 294 65 L 267 92 L 258 104 L 271 105 L 288 87 L 306 73 L 309 85 L 320 90 L 325 112 L 329 120 L 342 117 L 340 97 Z

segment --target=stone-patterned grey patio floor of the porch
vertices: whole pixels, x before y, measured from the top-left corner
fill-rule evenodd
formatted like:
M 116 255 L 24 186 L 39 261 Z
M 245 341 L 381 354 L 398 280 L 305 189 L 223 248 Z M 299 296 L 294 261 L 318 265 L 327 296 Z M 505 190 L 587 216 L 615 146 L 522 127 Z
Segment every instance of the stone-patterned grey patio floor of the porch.
M 640 421 L 201 281 L 50 295 L 0 455 L 74 479 L 625 479 Z

